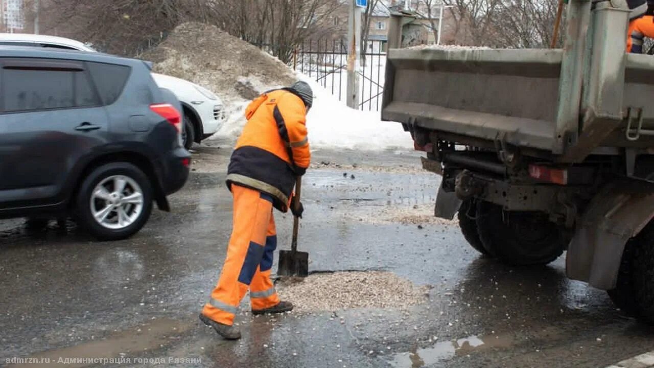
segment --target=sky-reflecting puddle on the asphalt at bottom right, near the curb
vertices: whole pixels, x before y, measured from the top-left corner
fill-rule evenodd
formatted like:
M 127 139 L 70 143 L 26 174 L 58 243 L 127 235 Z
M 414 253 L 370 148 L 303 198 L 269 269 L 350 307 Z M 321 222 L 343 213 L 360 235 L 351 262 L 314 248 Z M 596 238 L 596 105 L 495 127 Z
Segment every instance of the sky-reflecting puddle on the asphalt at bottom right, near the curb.
M 512 339 L 502 336 L 477 337 L 437 342 L 429 348 L 414 348 L 411 352 L 395 354 L 390 365 L 395 368 L 418 368 L 434 365 L 455 356 L 489 348 L 510 348 Z

